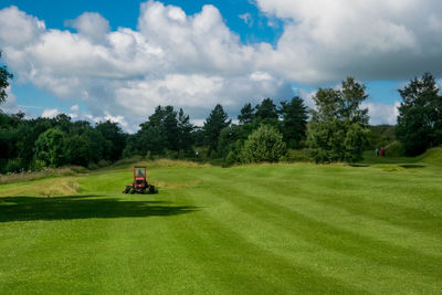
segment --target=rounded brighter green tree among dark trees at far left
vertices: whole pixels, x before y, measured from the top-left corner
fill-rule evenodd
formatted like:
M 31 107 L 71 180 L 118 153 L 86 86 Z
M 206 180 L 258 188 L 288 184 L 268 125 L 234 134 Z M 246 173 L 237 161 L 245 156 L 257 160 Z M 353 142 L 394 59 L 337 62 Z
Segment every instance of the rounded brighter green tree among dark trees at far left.
M 57 128 L 44 131 L 35 141 L 35 159 L 46 166 L 60 167 L 67 164 L 66 150 L 66 135 Z

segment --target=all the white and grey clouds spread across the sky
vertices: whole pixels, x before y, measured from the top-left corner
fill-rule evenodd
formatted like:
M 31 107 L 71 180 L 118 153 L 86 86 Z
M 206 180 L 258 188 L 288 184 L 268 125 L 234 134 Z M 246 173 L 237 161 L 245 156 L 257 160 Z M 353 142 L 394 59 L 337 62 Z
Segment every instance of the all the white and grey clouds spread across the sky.
M 136 30 L 112 31 L 92 12 L 66 21 L 76 32 L 49 30 L 43 20 L 4 8 L 0 48 L 19 81 L 82 101 L 94 120 L 109 118 L 126 129 L 159 104 L 182 107 L 197 122 L 217 103 L 234 116 L 246 102 L 290 99 L 293 82 L 318 86 L 347 75 L 367 81 L 441 74 L 439 1 L 255 2 L 270 20 L 282 20 L 276 46 L 243 44 L 213 6 L 188 15 L 149 0 L 140 6 Z M 312 95 L 303 94 L 308 106 Z M 390 113 L 371 108 L 391 122 Z

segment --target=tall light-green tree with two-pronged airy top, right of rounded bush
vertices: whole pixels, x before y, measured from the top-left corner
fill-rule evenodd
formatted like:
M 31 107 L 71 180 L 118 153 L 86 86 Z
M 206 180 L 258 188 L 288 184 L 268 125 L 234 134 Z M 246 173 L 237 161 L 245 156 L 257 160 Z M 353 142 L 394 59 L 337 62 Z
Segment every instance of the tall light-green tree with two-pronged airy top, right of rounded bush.
M 368 109 L 360 104 L 368 97 L 365 86 L 347 77 L 340 89 L 319 88 L 307 124 L 309 155 L 316 162 L 357 161 L 368 136 Z

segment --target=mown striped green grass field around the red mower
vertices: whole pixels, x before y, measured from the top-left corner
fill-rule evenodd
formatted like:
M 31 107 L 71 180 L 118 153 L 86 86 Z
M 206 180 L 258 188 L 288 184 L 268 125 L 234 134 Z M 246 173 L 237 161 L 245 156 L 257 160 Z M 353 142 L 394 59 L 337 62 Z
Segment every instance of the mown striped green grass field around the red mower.
M 0 294 L 440 294 L 440 150 L 359 166 L 155 161 L 0 187 Z M 44 197 L 46 196 L 46 197 Z

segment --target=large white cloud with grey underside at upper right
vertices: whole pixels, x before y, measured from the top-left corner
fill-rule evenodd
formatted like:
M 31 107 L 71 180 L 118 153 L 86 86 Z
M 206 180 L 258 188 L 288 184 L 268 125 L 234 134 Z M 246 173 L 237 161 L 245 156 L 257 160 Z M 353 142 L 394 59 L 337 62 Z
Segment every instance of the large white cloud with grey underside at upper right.
M 262 66 L 285 78 L 318 84 L 442 74 L 442 2 L 438 0 L 256 0 L 284 20 L 276 49 Z

